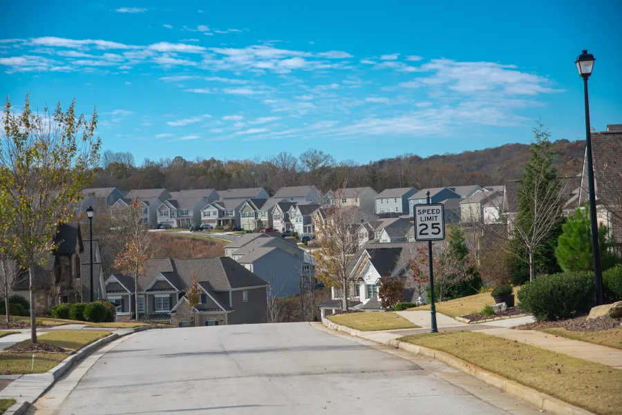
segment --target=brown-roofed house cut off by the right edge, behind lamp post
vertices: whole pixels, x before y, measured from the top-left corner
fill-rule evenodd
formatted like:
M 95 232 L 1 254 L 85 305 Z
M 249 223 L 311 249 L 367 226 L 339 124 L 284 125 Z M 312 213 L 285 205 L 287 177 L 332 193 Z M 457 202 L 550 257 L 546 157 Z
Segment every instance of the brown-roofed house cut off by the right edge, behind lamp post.
M 616 242 L 622 242 L 622 124 L 610 124 L 607 131 L 592 133 L 592 160 L 598 221 L 609 227 Z M 589 200 L 585 156 L 580 191 L 578 206 L 583 206 Z

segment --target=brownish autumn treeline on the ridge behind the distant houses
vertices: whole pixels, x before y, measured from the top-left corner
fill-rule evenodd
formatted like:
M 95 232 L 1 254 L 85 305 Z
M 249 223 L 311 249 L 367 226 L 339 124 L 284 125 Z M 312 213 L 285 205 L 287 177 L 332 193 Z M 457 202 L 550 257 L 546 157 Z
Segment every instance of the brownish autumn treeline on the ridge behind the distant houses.
M 554 165 L 560 175 L 581 171 L 585 142 L 566 139 L 552 143 Z M 145 159 L 136 166 L 130 153 L 104 152 L 102 166 L 93 187 L 119 189 L 166 188 L 238 189 L 263 187 L 272 195 L 282 186 L 314 185 L 321 191 L 370 186 L 380 192 L 396 187 L 424 189 L 440 186 L 479 184 L 492 186 L 520 179 L 529 159 L 527 144 L 505 144 L 459 154 L 420 157 L 406 153 L 397 157 L 357 164 L 337 162 L 323 151 L 310 149 L 298 157 L 279 153 L 254 160 L 185 160 L 177 156 L 158 161 Z

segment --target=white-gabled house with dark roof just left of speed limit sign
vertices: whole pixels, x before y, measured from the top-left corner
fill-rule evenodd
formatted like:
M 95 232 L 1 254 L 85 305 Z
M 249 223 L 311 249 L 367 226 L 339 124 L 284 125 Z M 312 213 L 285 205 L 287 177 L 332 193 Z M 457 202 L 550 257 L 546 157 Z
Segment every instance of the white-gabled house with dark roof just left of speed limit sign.
M 348 307 L 363 311 L 384 311 L 378 292 L 383 277 L 400 278 L 404 282 L 402 300 L 408 302 L 424 301 L 426 284 L 417 284 L 413 273 L 408 269 L 408 260 L 416 255 L 414 244 L 408 243 L 370 243 L 357 252 L 357 262 L 350 271 L 348 287 Z M 321 317 L 326 312 L 341 310 L 343 293 L 331 289 L 331 299 L 321 302 L 318 308 Z

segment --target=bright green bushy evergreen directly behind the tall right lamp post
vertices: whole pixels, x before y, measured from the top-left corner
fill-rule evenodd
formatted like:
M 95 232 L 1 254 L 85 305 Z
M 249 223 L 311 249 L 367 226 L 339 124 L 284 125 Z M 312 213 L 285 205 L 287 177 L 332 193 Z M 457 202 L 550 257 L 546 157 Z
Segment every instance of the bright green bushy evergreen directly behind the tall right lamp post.
M 555 256 L 564 271 L 594 271 L 591 226 L 590 217 L 583 209 L 576 209 L 574 216 L 568 218 L 563 225 L 563 233 L 559 237 Z M 612 243 L 607 238 L 608 231 L 607 226 L 602 224 L 599 226 L 603 271 L 616 263 L 616 257 L 608 249 Z

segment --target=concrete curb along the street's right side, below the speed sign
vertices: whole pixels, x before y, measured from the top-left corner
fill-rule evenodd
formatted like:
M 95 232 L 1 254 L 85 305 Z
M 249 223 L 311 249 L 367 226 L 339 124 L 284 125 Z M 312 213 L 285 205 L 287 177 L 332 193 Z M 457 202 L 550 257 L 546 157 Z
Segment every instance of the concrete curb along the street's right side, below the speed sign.
M 322 324 L 326 326 L 328 329 L 334 331 L 341 331 L 343 333 L 349 334 L 352 337 L 359 337 L 365 340 L 370 340 L 373 342 L 380 343 L 382 345 L 387 345 L 390 347 L 395 347 L 396 349 L 402 349 L 404 351 L 408 351 L 412 354 L 426 356 L 428 358 L 433 358 L 435 360 L 439 360 L 445 365 L 452 367 L 453 369 L 462 371 L 462 373 L 467 374 L 469 376 L 473 376 L 474 378 L 481 380 L 487 385 L 491 385 L 493 387 L 497 387 L 501 389 L 503 392 L 510 394 L 511 396 L 515 396 L 516 398 L 534 405 L 536 408 L 541 409 L 546 412 L 550 412 L 554 415 L 594 415 L 592 412 L 586 411 L 585 409 L 581 409 L 574 405 L 570 405 L 569 403 L 564 402 L 563 400 L 559 400 L 554 398 L 553 396 L 543 394 L 542 392 L 538 392 L 536 389 L 531 387 L 527 387 L 525 385 L 520 385 L 520 383 L 514 382 L 513 380 L 509 380 L 504 378 L 503 376 L 499 376 L 498 374 L 493 374 L 491 371 L 484 370 L 475 365 L 471 365 L 471 363 L 466 362 L 460 358 L 457 358 L 449 353 L 445 353 L 444 351 L 439 351 L 435 349 L 429 349 L 428 347 L 413 345 L 412 343 L 402 342 L 399 340 L 388 340 L 386 342 L 378 342 L 376 340 L 371 340 L 362 336 L 364 331 L 359 331 L 355 329 L 350 329 L 350 327 L 345 327 L 341 325 L 337 325 L 334 322 L 324 319 L 322 320 Z

